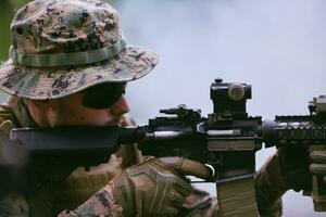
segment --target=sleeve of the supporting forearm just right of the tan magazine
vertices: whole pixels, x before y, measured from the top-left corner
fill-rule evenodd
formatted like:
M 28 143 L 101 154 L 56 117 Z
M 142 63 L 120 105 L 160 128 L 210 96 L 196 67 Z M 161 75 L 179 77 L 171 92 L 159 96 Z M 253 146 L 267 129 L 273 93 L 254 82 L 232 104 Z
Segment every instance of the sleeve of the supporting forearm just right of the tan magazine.
M 261 216 L 281 216 L 281 196 L 287 191 L 281 177 L 280 165 L 277 155 L 274 154 L 258 171 L 254 180 L 258 208 Z

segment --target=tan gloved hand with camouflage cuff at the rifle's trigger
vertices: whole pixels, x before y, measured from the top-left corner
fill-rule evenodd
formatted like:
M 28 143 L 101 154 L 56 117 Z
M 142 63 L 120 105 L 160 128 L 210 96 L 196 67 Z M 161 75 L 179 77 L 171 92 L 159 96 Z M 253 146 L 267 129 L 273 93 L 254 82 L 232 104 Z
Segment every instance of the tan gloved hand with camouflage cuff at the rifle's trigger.
M 192 192 L 185 175 L 209 179 L 211 170 L 184 157 L 151 158 L 128 167 L 75 210 L 63 210 L 59 217 L 177 216 Z

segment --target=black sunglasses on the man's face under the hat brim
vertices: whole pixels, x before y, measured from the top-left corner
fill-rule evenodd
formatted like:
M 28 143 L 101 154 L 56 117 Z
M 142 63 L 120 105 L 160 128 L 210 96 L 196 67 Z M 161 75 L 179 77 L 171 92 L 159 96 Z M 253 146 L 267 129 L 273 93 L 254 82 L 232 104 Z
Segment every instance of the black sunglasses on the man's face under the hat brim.
M 126 92 L 126 82 L 101 84 L 82 91 L 83 105 L 91 108 L 108 108 Z

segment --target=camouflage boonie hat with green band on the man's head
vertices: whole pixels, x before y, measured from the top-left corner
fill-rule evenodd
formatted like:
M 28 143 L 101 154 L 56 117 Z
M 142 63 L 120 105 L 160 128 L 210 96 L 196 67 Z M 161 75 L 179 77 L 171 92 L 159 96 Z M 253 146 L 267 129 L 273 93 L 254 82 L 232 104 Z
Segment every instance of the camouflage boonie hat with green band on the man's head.
M 158 55 L 127 44 L 117 12 L 99 0 L 37 0 L 14 17 L 10 59 L 0 66 L 0 89 L 45 100 L 102 82 L 147 75 Z

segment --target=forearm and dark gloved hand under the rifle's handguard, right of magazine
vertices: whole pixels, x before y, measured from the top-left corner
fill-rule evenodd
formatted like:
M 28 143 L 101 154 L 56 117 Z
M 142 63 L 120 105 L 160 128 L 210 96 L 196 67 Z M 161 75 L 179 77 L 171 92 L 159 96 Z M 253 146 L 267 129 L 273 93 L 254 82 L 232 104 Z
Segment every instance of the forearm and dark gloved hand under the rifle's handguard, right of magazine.
M 281 216 L 280 197 L 286 191 L 311 188 L 308 155 L 304 146 L 283 146 L 258 171 L 254 186 L 261 216 Z

